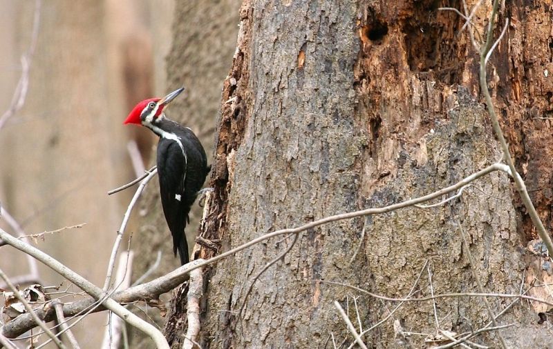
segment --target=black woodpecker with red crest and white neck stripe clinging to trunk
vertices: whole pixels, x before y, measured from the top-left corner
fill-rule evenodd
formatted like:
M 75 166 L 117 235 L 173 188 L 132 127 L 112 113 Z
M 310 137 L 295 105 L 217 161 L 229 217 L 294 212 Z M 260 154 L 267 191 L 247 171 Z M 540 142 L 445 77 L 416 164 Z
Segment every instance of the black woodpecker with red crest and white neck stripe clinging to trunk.
M 161 204 L 173 235 L 173 252 L 176 255 L 178 251 L 182 265 L 189 261 L 185 236 L 188 214 L 209 172 L 205 150 L 196 134 L 164 114 L 165 108 L 183 90 L 179 88 L 163 98 L 141 101 L 124 121 L 145 126 L 160 137 L 157 163 Z

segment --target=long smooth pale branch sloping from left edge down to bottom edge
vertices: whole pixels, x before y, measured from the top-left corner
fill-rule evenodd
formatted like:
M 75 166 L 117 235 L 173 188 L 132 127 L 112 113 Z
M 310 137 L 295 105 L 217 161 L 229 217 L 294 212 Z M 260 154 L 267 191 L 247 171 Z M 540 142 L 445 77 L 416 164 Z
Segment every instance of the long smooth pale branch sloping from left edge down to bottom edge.
M 84 277 L 78 275 L 73 270 L 67 268 L 62 263 L 59 263 L 56 259 L 53 259 L 50 257 L 50 255 L 47 255 L 46 253 L 42 252 L 41 250 L 28 245 L 27 243 L 24 243 L 23 241 L 19 241 L 18 239 L 15 239 L 15 237 L 12 237 L 7 232 L 0 229 L 0 238 L 6 241 L 10 244 L 10 246 L 13 246 L 17 248 L 18 250 L 21 250 L 21 252 L 25 252 L 28 255 L 31 255 L 32 257 L 35 257 L 42 263 L 46 264 L 46 266 L 52 268 L 57 272 L 59 275 L 62 275 L 66 277 L 69 281 L 75 283 L 79 288 L 84 290 L 84 292 L 88 293 L 88 295 L 91 295 L 97 300 L 102 299 L 102 304 L 108 308 L 109 310 L 115 312 L 118 317 L 121 317 L 129 323 L 129 325 L 134 326 L 141 332 L 144 332 L 146 335 L 151 337 L 154 343 L 156 343 L 156 346 L 158 348 L 162 349 L 169 349 L 169 344 L 167 343 L 167 339 L 163 336 L 163 334 L 154 326 L 152 326 L 150 323 L 147 323 L 146 321 L 140 319 L 140 317 L 137 317 L 132 312 L 124 308 L 124 306 L 121 306 L 118 302 L 114 301 L 113 299 L 106 297 L 106 292 L 104 290 L 98 288 L 90 281 L 84 279 Z

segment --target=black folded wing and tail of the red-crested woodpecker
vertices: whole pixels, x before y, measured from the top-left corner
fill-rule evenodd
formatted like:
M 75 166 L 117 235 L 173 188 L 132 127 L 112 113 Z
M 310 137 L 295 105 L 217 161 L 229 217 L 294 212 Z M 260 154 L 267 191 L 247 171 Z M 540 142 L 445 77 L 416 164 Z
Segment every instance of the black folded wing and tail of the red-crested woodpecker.
M 186 171 L 187 160 L 179 143 L 161 138 L 158 144 L 161 203 L 167 226 L 173 235 L 173 252 L 176 254 L 179 251 L 181 262 L 188 259 L 185 227 L 190 206 L 185 202 Z

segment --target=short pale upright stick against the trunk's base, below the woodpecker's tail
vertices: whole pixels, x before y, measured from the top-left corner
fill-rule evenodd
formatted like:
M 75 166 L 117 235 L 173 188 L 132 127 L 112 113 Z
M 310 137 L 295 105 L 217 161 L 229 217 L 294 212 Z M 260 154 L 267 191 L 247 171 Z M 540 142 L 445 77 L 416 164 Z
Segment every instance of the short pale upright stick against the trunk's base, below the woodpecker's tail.
M 182 343 L 182 349 L 192 349 L 196 343 L 198 333 L 200 333 L 200 299 L 203 291 L 203 270 L 196 269 L 190 273 L 189 289 L 187 295 L 187 320 L 188 328 L 186 330 L 185 342 Z

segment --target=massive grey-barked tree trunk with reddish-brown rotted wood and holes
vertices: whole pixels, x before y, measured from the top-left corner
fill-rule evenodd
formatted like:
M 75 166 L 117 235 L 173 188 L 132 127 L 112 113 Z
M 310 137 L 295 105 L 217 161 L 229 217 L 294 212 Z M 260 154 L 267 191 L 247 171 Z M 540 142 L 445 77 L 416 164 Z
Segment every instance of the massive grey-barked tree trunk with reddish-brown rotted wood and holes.
M 220 240 L 219 252 L 229 250 L 274 230 L 428 194 L 499 159 L 480 103 L 478 52 L 466 32 L 457 35 L 465 21 L 440 6 L 449 5 L 245 0 L 223 89 L 215 193 L 207 203 L 203 237 Z M 480 33 L 490 8 L 482 5 L 474 17 Z M 551 226 L 552 170 L 546 163 L 553 137 L 550 119 L 543 119 L 553 95 L 552 77 L 544 73 L 551 70 L 551 26 L 537 24 L 549 23 L 547 11 L 542 4 L 505 4 L 498 26 L 506 17 L 513 25 L 488 71 L 517 166 Z M 461 230 L 469 237 L 474 268 Z M 530 266 L 538 257 L 524 250 L 533 235 L 509 178 L 494 172 L 436 208 L 407 208 L 302 232 L 290 252 L 256 279 L 294 241 L 277 237 L 206 270 L 200 344 L 349 345 L 353 337 L 334 301 L 348 309 L 357 332 L 397 305 L 324 281 L 400 298 L 413 288 L 416 297 L 425 297 L 479 292 L 476 272 L 485 292 L 518 294 L 525 273 L 541 278 L 541 270 Z M 197 257 L 213 254 L 203 249 Z M 186 327 L 186 294 L 176 296 L 166 328 L 174 348 Z M 497 315 L 511 300 L 489 302 Z M 509 348 L 552 346 L 537 319 L 533 310 L 518 306 L 498 319 L 515 323 L 513 328 L 474 340 L 497 347 L 500 333 Z M 407 342 L 421 348 L 438 330 L 471 331 L 487 321 L 482 299 L 440 298 L 435 304 L 405 303 L 363 338 L 373 348 Z M 404 338 L 401 327 L 427 336 Z

